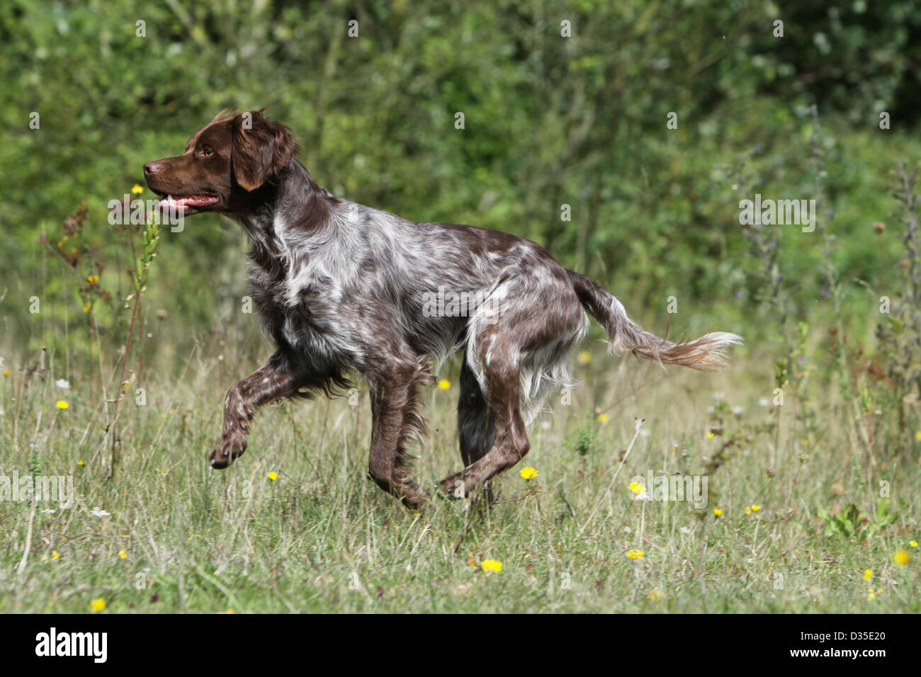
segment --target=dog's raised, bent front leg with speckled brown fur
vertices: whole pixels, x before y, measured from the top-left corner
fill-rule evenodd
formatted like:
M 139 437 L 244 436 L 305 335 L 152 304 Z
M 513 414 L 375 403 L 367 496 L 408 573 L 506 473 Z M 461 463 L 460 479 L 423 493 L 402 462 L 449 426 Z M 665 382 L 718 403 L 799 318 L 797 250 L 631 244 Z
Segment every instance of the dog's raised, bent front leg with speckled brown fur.
M 261 368 L 240 380 L 227 391 L 224 400 L 224 434 L 211 452 L 209 461 L 216 469 L 227 468 L 246 450 L 250 423 L 262 404 L 292 395 L 302 379 L 288 360 L 275 353 Z

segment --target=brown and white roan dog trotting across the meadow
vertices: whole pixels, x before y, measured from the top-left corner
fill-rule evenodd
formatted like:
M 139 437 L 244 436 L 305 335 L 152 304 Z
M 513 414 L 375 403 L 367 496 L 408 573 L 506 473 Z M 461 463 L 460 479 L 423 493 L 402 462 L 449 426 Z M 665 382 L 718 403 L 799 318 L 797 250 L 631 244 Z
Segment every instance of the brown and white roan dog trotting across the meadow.
M 265 365 L 227 392 L 212 468 L 243 453 L 263 404 L 341 394 L 345 373 L 355 371 L 371 396 L 368 473 L 420 508 L 429 494 L 410 476 L 407 446 L 425 433 L 419 392 L 433 379 L 430 358 L 463 350 L 464 468 L 439 483 L 461 497 L 528 453 L 528 426 L 547 396 L 574 385 L 566 361 L 587 330 L 587 311 L 613 354 L 663 365 L 717 370 L 727 346 L 741 342 L 733 333 L 679 343 L 649 333 L 611 294 L 528 239 L 414 223 L 338 199 L 297 161 L 288 127 L 262 111 L 222 112 L 182 155 L 144 165 L 161 207 L 216 212 L 246 231 L 253 299 L 275 345 Z M 449 295 L 464 299 L 463 308 L 436 302 Z

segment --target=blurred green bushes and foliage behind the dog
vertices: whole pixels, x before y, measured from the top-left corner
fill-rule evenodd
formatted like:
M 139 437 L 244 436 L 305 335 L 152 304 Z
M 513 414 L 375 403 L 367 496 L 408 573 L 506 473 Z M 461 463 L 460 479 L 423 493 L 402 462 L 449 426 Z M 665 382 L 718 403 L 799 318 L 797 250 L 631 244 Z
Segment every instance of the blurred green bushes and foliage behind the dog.
M 0 54 L 0 314 L 29 352 L 64 347 L 83 321 L 88 274 L 100 277 L 89 292 L 111 296 L 94 306 L 99 331 L 123 339 L 126 322 L 104 313 L 122 312 L 130 245 L 106 204 L 224 108 L 271 106 L 340 197 L 535 239 L 654 330 L 676 296 L 672 331 L 747 337 L 772 309 L 738 203 L 752 186 L 812 196 L 810 106 L 827 172 L 822 217 L 857 332 L 870 331 L 875 300 L 852 280 L 885 289 L 898 279 L 899 237 L 872 224 L 892 217 L 895 162 L 921 151 L 921 12 L 907 1 L 11 0 Z M 40 129 L 29 128 L 33 111 Z M 82 201 L 70 265 L 54 248 Z M 788 307 L 812 321 L 829 303 L 825 243 L 795 226 L 782 235 Z M 245 248 L 218 216 L 164 233 L 142 309 L 162 320 L 147 350 L 172 359 L 190 344 L 257 335 L 239 315 Z M 29 315 L 33 295 L 56 312 Z

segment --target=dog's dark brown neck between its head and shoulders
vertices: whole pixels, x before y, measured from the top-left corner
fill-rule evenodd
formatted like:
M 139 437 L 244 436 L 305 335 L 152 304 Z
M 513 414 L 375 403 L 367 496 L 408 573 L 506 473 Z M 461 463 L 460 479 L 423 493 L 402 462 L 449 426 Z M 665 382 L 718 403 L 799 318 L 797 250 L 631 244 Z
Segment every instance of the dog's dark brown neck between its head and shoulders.
M 280 255 L 279 219 L 284 215 L 287 232 L 309 233 L 324 226 L 339 200 L 310 176 L 304 165 L 292 159 L 284 174 L 268 181 L 233 204 L 229 216 L 237 220 L 250 236 L 256 250 Z M 255 252 L 254 252 L 255 253 Z

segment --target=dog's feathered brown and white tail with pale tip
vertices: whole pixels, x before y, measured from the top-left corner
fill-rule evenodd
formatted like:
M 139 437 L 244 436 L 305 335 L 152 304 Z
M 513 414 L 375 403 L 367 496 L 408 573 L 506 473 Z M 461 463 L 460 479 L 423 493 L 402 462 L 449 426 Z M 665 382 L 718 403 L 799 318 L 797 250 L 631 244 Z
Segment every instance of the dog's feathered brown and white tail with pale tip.
M 682 365 L 701 371 L 718 371 L 727 365 L 726 347 L 741 344 L 734 333 L 707 333 L 694 341 L 673 343 L 649 333 L 627 317 L 623 304 L 583 274 L 567 270 L 583 308 L 608 333 L 611 352 L 633 352 L 666 365 Z

